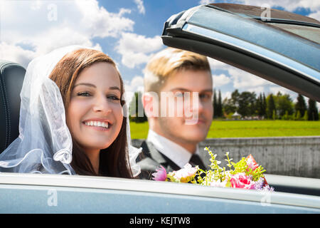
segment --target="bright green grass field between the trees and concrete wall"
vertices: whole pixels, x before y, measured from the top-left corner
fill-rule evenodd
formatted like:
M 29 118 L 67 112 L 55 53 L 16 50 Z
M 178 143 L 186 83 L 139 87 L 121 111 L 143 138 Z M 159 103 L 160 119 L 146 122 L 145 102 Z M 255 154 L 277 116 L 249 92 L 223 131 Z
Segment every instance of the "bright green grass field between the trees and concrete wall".
M 145 139 L 149 125 L 130 123 L 131 137 Z M 245 138 L 320 135 L 320 121 L 213 120 L 207 138 Z

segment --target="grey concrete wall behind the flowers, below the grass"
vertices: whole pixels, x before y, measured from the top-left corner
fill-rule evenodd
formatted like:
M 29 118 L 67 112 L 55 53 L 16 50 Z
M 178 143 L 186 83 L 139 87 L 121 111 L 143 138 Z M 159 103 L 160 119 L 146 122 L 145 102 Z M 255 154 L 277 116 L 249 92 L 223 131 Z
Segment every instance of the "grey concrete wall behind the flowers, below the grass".
M 136 147 L 141 142 L 132 140 Z M 221 161 L 220 166 L 225 166 L 225 152 L 229 152 L 233 162 L 252 154 L 268 174 L 320 178 L 320 136 L 212 138 L 199 146 L 206 165 L 210 165 L 210 156 L 203 150 L 207 146 L 218 155 L 216 160 Z

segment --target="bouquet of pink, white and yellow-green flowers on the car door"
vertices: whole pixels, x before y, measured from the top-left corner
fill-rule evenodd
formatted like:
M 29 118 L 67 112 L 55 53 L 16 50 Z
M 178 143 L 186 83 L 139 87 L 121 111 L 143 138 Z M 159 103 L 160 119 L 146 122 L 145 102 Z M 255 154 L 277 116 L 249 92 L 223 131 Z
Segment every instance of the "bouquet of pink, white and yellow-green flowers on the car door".
M 242 157 L 235 163 L 229 158 L 229 152 L 225 153 L 228 162 L 228 170 L 220 167 L 220 161 L 215 160 L 217 155 L 213 154 L 208 147 L 205 148 L 210 155 L 210 170 L 201 170 L 198 166 L 192 167 L 187 163 L 181 170 L 166 173 L 161 166 L 153 175 L 153 180 L 169 182 L 189 182 L 196 185 L 209 185 L 215 187 L 237 187 L 248 190 L 273 191 L 265 180 L 263 173 L 266 171 L 258 165 L 252 155 Z

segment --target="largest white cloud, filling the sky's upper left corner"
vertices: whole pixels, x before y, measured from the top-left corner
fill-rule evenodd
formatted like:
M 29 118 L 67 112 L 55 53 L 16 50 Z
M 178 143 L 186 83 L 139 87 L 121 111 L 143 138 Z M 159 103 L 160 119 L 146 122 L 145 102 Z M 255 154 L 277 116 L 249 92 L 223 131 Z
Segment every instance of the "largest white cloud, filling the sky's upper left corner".
M 79 44 L 101 50 L 92 38 L 119 37 L 134 26 L 124 16 L 129 9 L 110 13 L 96 0 L 0 1 L 0 10 L 1 53 L 23 66 L 61 46 Z

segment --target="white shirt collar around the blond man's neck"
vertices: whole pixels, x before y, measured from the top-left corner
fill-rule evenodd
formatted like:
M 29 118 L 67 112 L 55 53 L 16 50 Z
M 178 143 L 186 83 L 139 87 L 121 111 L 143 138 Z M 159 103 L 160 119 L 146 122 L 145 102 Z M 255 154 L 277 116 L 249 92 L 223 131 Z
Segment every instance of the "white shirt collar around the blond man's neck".
M 148 137 L 146 138 L 149 142 L 152 142 L 156 150 L 159 150 L 162 154 L 168 157 L 171 161 L 176 163 L 178 167 L 183 167 L 191 159 L 191 152 L 188 152 L 181 145 L 172 142 L 171 140 L 155 133 L 149 129 Z M 199 147 L 196 146 L 196 154 L 199 154 Z

